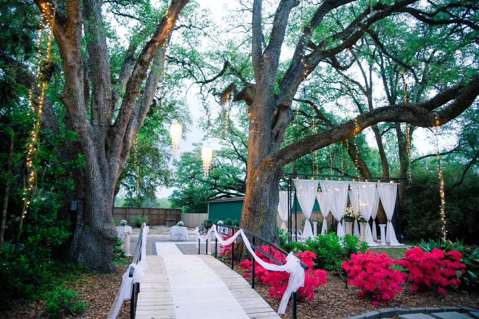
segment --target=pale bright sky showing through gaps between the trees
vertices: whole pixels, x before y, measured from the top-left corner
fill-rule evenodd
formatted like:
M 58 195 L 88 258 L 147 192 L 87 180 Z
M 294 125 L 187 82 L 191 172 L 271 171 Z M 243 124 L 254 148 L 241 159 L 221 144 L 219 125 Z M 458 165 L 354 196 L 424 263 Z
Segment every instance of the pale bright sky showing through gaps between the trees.
M 237 2 L 235 0 L 199 0 L 201 8 L 207 8 L 211 11 L 211 16 L 216 23 L 219 25 L 226 25 L 224 22 L 225 17 L 229 12 L 236 7 Z M 125 30 L 126 31 L 126 30 Z M 282 53 L 282 59 L 288 58 L 291 52 L 285 50 Z M 190 110 L 190 115 L 192 118 L 192 125 L 187 128 L 187 132 L 184 136 L 184 139 L 180 141 L 179 154 L 183 152 L 189 152 L 193 150 L 194 143 L 202 142 L 205 132 L 199 128 L 198 123 L 200 118 L 204 115 L 204 109 L 201 104 L 200 98 L 198 97 L 199 88 L 197 85 L 193 85 L 190 89 L 185 92 L 186 102 Z M 212 103 L 216 103 L 212 101 Z M 368 143 L 373 147 L 377 148 L 376 142 L 371 129 L 366 129 L 365 131 Z M 413 158 L 416 156 L 421 156 L 425 154 L 430 154 L 436 152 L 436 138 L 433 132 L 430 129 L 417 128 L 414 131 L 412 137 L 415 150 L 413 153 Z M 441 135 L 439 137 L 439 146 L 440 149 L 452 149 L 456 146 L 457 138 L 454 134 Z M 216 144 L 210 143 L 215 148 Z M 177 155 L 179 158 L 180 155 Z M 172 166 L 172 163 L 170 163 Z M 158 197 L 168 197 L 172 194 L 174 188 L 165 188 L 160 187 L 157 191 Z

